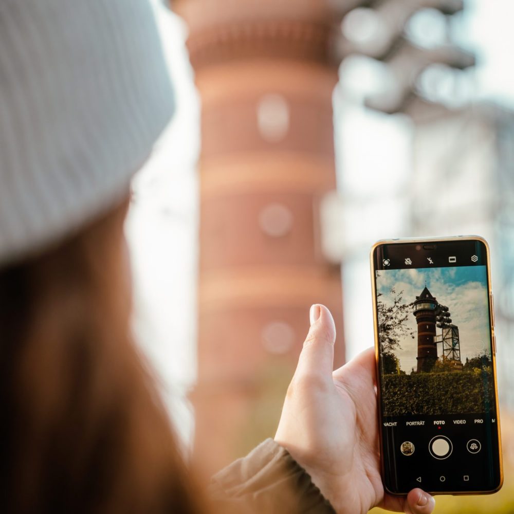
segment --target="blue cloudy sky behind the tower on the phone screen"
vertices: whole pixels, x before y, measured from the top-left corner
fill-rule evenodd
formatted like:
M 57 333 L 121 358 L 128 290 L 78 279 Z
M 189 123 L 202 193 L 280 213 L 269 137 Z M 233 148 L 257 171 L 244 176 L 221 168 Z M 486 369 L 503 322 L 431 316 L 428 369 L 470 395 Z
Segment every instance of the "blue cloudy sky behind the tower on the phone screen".
M 489 309 L 487 290 L 487 269 L 485 266 L 463 266 L 424 269 L 392 269 L 377 272 L 377 291 L 381 300 L 392 304 L 394 295 L 402 292 L 405 303 L 413 302 L 425 284 L 443 305 L 448 306 L 452 322 L 458 326 L 461 345 L 461 360 L 487 352 L 490 354 Z M 396 352 L 400 367 L 409 373 L 416 368 L 417 325 L 413 314 L 409 315 L 407 326 L 415 332 L 415 339 L 404 338 Z M 437 329 L 440 334 L 440 329 Z M 440 354 L 441 348 L 438 345 Z

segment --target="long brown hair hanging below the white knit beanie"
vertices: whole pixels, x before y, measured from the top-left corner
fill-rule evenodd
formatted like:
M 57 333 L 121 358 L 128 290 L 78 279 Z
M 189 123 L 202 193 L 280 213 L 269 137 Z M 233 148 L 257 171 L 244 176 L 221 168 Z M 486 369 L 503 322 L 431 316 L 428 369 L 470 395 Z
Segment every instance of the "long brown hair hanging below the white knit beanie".
M 132 341 L 127 202 L 0 270 L 0 511 L 197 512 Z

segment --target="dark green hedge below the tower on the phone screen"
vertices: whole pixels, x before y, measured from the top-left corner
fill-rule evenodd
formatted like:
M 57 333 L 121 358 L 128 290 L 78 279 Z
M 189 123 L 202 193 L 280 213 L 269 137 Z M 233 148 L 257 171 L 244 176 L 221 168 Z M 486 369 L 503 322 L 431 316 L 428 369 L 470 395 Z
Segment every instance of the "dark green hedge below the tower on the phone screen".
M 384 415 L 488 412 L 494 402 L 490 371 L 383 375 Z

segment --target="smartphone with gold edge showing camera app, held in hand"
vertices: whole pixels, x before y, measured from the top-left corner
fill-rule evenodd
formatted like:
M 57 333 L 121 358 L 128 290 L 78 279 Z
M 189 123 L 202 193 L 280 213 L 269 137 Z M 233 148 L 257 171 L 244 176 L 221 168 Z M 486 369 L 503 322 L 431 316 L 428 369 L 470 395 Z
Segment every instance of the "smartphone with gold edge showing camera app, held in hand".
M 391 494 L 502 486 L 489 261 L 478 236 L 372 247 L 380 454 Z

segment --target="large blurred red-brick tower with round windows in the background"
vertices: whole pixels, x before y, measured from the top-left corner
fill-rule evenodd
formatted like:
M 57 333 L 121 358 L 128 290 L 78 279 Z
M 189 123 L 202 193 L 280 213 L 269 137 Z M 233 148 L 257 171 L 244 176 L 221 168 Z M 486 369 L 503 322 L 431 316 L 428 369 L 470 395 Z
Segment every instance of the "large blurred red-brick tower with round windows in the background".
M 321 254 L 318 215 L 321 196 L 336 187 L 330 49 L 343 13 L 335 4 L 173 2 L 189 26 L 202 104 L 192 398 L 206 474 L 273 435 L 250 420 L 276 427 L 280 403 L 263 390 L 290 379 L 311 303 L 332 310 L 343 362 L 340 269 Z

